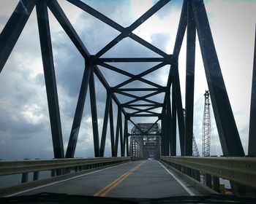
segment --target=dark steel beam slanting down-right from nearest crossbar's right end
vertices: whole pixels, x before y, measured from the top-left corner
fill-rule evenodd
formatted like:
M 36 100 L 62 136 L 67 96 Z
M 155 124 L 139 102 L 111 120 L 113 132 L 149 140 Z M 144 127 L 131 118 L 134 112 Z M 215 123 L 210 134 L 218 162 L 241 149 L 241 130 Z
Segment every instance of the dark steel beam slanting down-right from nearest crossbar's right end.
M 177 114 L 178 114 L 178 133 L 179 133 L 179 140 L 181 146 L 181 156 L 184 156 L 184 114 L 182 108 L 182 101 L 181 101 L 181 87 L 179 83 L 179 76 L 178 76 L 178 60 L 173 63 L 173 75 L 174 81 L 173 85 L 175 88 L 175 98 L 176 98 L 176 107 L 177 107 Z

